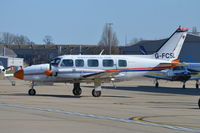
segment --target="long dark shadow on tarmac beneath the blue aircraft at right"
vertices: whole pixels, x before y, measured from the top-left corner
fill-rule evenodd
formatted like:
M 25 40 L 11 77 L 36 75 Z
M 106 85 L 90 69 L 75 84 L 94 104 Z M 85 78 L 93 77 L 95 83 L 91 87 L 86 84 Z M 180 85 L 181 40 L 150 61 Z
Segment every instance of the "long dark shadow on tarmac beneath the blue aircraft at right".
M 84 86 L 92 87 L 92 86 Z M 151 93 L 163 93 L 163 94 L 182 94 L 182 95 L 200 95 L 200 89 L 196 88 L 171 88 L 171 87 L 159 87 L 154 86 L 137 86 L 137 87 L 127 87 L 127 86 L 102 86 L 103 89 L 113 89 L 113 90 L 127 90 L 127 91 L 140 91 L 140 92 L 151 92 Z

